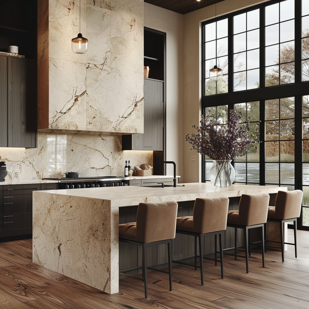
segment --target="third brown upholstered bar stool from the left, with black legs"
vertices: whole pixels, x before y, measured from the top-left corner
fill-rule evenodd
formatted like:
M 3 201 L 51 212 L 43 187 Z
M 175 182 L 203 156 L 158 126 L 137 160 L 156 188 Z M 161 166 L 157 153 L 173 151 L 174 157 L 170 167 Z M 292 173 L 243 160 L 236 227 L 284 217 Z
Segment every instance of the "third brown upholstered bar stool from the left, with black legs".
M 246 271 L 249 273 L 248 269 L 248 251 L 255 253 L 262 253 L 262 264 L 264 265 L 264 243 L 260 242 L 262 247 L 262 252 L 248 250 L 248 231 L 254 227 L 260 227 L 261 240 L 264 239 L 264 223 L 267 219 L 267 211 L 269 204 L 269 194 L 242 194 L 239 201 L 239 210 L 229 210 L 227 214 L 227 224 L 226 226 L 235 228 L 235 260 L 237 256 L 246 258 Z M 237 248 L 237 229 L 243 229 L 243 237 L 245 243 L 245 256 L 237 255 L 237 250 L 242 250 Z M 225 250 L 231 250 L 228 248 Z M 228 253 L 227 253 L 228 254 Z M 232 254 L 230 254 L 232 255 Z

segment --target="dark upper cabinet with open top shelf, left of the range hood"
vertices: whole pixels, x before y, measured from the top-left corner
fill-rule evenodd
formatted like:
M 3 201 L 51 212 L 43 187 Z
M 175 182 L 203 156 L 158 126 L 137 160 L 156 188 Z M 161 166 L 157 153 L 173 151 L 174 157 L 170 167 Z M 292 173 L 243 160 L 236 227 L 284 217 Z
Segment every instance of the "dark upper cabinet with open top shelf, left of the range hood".
M 9 53 L 11 45 L 18 55 Z M 1 2 L 0 130 L 0 147 L 37 145 L 36 1 Z

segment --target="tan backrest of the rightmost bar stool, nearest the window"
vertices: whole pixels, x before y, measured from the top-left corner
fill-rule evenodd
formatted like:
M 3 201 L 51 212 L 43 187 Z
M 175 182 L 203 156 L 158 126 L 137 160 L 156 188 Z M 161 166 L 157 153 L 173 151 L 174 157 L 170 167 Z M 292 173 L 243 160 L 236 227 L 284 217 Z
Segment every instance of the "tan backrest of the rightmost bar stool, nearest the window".
M 302 207 L 303 191 L 278 191 L 275 204 L 276 218 L 298 218 Z

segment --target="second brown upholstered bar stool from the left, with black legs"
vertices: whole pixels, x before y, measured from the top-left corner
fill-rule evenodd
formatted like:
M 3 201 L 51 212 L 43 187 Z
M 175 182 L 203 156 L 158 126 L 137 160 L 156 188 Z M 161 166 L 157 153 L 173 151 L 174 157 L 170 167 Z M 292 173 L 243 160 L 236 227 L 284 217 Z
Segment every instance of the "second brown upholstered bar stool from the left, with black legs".
M 229 207 L 229 199 L 227 197 L 217 198 L 197 198 L 194 203 L 193 216 L 179 217 L 176 223 L 176 233 L 194 236 L 194 258 L 195 263 L 188 264 L 181 262 L 187 257 L 173 260 L 173 262 L 194 266 L 201 269 L 201 285 L 204 284 L 203 279 L 203 258 L 204 258 L 204 238 L 206 236 L 215 235 L 215 257 L 214 259 L 206 258 L 207 260 L 214 260 L 217 265 L 217 235 L 219 235 L 220 246 L 220 260 L 221 263 L 221 278 L 223 278 L 223 255 L 222 255 L 222 234 L 226 230 L 226 217 Z M 200 266 L 197 266 L 197 237 L 200 250 Z

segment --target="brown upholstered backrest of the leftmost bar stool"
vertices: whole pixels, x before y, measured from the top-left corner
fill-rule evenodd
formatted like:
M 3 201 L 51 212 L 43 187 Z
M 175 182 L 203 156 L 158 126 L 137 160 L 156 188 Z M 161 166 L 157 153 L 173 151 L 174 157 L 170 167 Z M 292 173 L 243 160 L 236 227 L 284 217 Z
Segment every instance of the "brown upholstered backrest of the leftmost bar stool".
M 178 204 L 175 201 L 139 203 L 136 216 L 136 240 L 150 243 L 175 238 L 177 209 Z

